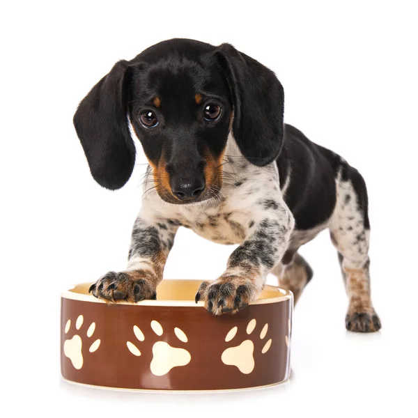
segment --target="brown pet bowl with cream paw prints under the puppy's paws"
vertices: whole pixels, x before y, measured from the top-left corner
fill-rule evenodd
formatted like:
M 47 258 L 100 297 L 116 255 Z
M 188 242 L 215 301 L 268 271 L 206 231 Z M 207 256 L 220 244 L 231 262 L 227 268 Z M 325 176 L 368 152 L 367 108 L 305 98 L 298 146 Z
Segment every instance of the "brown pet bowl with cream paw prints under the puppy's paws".
M 290 367 L 293 295 L 265 286 L 238 314 L 194 302 L 197 280 L 163 280 L 157 300 L 106 304 L 79 284 L 61 297 L 61 373 L 117 389 L 219 390 L 276 385 Z

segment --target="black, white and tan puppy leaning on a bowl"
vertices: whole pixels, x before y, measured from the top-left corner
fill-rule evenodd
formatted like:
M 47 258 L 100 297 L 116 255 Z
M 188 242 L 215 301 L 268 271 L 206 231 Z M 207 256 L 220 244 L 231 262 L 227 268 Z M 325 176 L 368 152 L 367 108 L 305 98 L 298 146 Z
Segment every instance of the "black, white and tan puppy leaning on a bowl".
M 349 298 L 346 327 L 373 332 L 366 185 L 356 169 L 285 125 L 274 73 L 229 44 L 173 39 L 119 61 L 82 100 L 75 129 L 93 178 L 130 178 L 137 135 L 149 161 L 127 269 L 90 291 L 108 302 L 155 299 L 179 226 L 239 244 L 196 301 L 243 309 L 269 272 L 295 300 L 312 277 L 297 250 L 330 229 Z

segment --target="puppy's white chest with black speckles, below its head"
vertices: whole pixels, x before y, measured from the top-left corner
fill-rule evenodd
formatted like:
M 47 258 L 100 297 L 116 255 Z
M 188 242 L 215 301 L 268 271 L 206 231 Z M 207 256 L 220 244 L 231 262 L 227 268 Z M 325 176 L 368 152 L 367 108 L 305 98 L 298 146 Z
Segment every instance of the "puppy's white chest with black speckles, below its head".
M 256 167 L 240 156 L 231 137 L 226 150 L 222 190 L 214 199 L 196 205 L 165 205 L 150 194 L 146 208 L 150 216 L 158 214 L 161 224 L 185 226 L 219 244 L 241 244 L 251 235 L 251 227 L 272 214 L 287 222 L 284 202 L 279 191 L 277 166 Z M 286 213 L 285 213 L 286 212 Z

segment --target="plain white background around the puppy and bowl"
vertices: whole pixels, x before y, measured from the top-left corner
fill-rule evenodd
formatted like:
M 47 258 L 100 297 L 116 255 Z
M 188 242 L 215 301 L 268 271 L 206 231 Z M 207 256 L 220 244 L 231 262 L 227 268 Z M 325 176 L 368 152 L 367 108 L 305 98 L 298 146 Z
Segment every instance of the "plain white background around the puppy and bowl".
M 3 407 L 12 408 L 8 416 L 417 416 L 413 3 L 2 6 L 0 379 Z M 72 115 L 116 61 L 173 37 L 231 42 L 268 65 L 284 85 L 286 122 L 346 157 L 366 178 L 372 296 L 382 330 L 346 332 L 336 253 L 328 234 L 320 234 L 301 251 L 315 276 L 295 310 L 293 374 L 284 385 L 229 394 L 143 394 L 76 387 L 60 378 L 60 292 L 124 268 L 146 167 L 138 147 L 130 182 L 117 192 L 102 189 L 90 176 Z M 181 230 L 165 277 L 215 279 L 230 252 Z

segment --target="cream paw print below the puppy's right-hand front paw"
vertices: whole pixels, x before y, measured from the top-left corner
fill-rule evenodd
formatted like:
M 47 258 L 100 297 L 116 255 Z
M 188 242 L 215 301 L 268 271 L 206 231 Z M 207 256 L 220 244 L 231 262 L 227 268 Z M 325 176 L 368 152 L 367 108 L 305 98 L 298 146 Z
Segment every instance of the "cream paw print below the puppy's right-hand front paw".
M 256 320 L 251 319 L 247 325 L 247 334 L 251 335 L 256 328 Z M 226 334 L 225 341 L 231 341 L 235 335 L 237 334 L 238 327 L 233 327 L 229 330 L 228 334 Z M 249 374 L 251 371 L 254 370 L 254 366 L 256 365 L 254 362 L 254 339 L 260 339 L 263 341 L 265 336 L 268 332 L 268 323 L 263 326 L 259 336 L 253 334 L 252 339 L 246 339 L 242 341 L 239 346 L 236 347 L 229 347 L 224 350 L 222 353 L 222 362 L 229 366 L 236 366 L 238 370 L 243 374 Z M 261 353 L 265 354 L 270 350 L 272 345 L 272 339 L 268 339 L 268 341 L 264 344 L 263 348 L 261 349 Z

